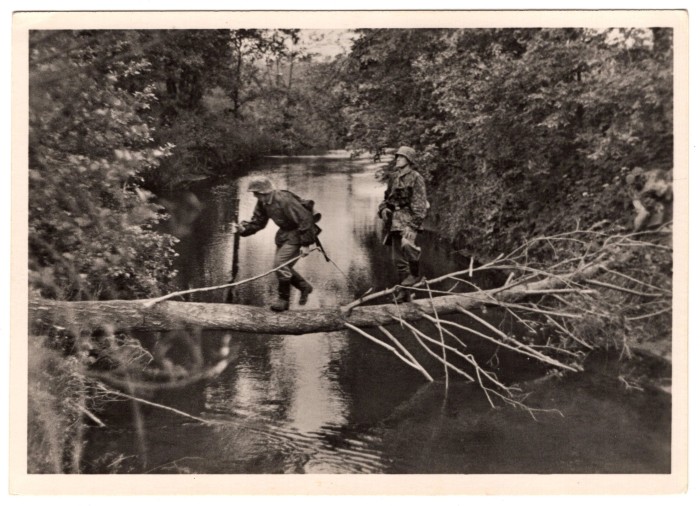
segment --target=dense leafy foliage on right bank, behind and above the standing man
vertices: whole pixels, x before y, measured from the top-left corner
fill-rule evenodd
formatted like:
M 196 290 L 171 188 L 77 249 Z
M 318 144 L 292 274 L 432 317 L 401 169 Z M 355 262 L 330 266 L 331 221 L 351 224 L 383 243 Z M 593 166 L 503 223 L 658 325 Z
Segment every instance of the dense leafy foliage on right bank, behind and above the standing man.
M 432 216 L 470 252 L 632 218 L 623 168 L 669 171 L 667 29 L 366 30 L 349 57 L 355 147 L 409 144 Z

